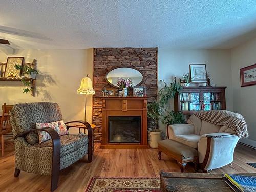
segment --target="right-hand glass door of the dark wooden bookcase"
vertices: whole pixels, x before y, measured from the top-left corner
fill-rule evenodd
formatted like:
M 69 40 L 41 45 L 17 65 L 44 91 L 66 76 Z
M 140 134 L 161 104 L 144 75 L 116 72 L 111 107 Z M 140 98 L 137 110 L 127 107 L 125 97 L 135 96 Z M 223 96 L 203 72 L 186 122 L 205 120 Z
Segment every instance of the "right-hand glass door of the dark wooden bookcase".
M 220 110 L 221 109 L 221 93 L 204 92 L 203 93 L 204 110 Z

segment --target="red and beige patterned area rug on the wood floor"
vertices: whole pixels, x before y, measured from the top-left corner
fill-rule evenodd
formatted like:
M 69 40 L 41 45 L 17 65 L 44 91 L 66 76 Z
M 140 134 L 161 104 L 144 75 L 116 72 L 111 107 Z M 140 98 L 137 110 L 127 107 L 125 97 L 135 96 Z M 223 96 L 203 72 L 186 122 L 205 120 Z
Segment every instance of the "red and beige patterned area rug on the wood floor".
M 93 177 L 86 192 L 160 192 L 158 177 Z

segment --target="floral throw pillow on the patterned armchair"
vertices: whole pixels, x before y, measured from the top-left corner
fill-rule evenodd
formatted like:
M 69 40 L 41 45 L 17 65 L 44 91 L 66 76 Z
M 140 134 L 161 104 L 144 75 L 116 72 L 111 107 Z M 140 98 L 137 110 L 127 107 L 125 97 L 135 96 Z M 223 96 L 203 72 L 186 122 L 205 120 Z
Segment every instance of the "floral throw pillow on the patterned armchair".
M 47 127 L 50 127 L 52 129 L 54 129 L 55 131 L 57 131 L 59 136 L 69 134 L 63 120 L 52 122 L 52 123 L 36 123 L 36 129 L 40 129 L 40 128 L 44 129 Z M 47 132 L 44 132 L 44 131 L 38 131 L 38 137 L 39 137 L 39 143 L 42 143 L 44 141 L 51 139 L 51 136 Z

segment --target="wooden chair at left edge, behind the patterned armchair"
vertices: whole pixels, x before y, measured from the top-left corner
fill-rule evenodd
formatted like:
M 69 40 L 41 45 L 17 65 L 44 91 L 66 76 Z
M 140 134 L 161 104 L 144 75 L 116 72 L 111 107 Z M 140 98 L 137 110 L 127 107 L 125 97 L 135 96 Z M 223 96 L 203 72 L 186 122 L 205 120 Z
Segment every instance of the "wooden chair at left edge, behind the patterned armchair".
M 2 116 L 0 119 L 0 135 L 1 135 L 1 154 L 5 154 L 5 142 L 13 140 L 12 127 L 10 122 L 10 111 L 12 110 L 13 105 L 4 105 L 2 106 Z M 6 138 L 6 139 L 5 139 Z M 6 146 L 13 144 L 10 142 Z

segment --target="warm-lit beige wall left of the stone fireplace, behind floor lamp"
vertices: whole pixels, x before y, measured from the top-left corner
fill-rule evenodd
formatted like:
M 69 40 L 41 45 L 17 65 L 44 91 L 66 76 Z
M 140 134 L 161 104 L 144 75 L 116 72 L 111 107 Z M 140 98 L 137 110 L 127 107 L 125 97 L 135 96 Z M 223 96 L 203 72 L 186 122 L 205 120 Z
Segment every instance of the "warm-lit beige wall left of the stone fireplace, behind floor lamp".
M 93 73 L 93 49 L 83 50 L 0 50 L 0 62 L 8 56 L 23 56 L 25 62 L 37 60 L 36 94 L 23 93 L 21 82 L 0 81 L 0 103 L 57 102 L 65 121 L 84 119 L 84 95 L 77 94 L 81 79 Z M 87 121 L 91 122 L 91 98 L 87 96 Z

